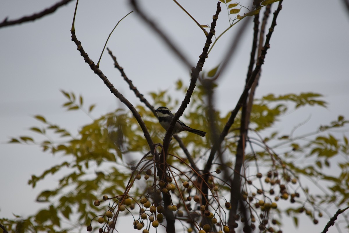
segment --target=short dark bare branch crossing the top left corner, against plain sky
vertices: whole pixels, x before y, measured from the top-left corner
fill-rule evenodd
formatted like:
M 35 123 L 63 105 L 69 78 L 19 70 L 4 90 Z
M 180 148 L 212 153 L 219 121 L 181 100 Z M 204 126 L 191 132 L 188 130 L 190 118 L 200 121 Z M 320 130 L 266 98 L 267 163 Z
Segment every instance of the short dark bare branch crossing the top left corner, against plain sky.
M 44 9 L 43 11 L 39 12 L 39 13 L 34 13 L 32 15 L 29 16 L 24 16 L 20 19 L 17 20 L 10 20 L 7 21 L 7 17 L 5 18 L 5 20 L 3 20 L 0 23 L 0 28 L 2 27 L 7 27 L 7 26 L 11 26 L 11 25 L 15 25 L 15 24 L 21 24 L 24 22 L 29 22 L 29 21 L 34 21 L 37 19 L 40 19 L 41 17 L 45 16 L 45 15 L 49 15 L 52 14 L 53 12 L 55 12 L 59 7 L 66 5 L 68 2 L 70 2 L 72 0 L 62 0 L 60 2 L 57 2 L 56 4 L 54 4 L 53 6 Z

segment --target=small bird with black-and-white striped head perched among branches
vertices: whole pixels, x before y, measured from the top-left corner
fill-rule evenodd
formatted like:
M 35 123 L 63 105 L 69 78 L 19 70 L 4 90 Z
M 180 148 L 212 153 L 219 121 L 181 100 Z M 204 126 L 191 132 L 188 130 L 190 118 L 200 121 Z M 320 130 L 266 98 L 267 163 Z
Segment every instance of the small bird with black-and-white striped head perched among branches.
M 168 109 L 166 107 L 159 107 L 155 111 L 156 111 L 157 118 L 159 119 L 159 122 L 160 122 L 161 126 L 165 130 L 167 130 L 169 128 L 169 126 L 170 126 L 170 123 L 171 123 L 172 118 L 174 117 L 174 115 L 172 114 L 170 109 Z M 183 122 L 177 120 L 176 124 L 174 125 L 173 134 L 174 133 L 179 133 L 179 132 L 182 132 L 182 131 L 188 131 L 188 132 L 191 132 L 191 133 L 195 133 L 195 134 L 198 134 L 201 137 L 205 137 L 205 135 L 206 135 L 206 132 L 192 129 L 189 126 L 186 126 Z

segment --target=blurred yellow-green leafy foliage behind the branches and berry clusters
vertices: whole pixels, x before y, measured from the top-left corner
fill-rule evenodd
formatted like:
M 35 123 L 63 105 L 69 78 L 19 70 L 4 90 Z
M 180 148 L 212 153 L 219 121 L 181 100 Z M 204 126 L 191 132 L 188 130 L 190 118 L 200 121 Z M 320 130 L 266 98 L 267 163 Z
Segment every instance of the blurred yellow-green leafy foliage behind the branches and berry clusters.
M 185 89 L 180 80 L 177 82 L 177 88 L 179 91 Z M 193 128 L 208 131 L 209 134 L 207 109 L 204 104 L 205 89 L 199 87 L 196 90 L 193 94 L 194 101 L 188 109 L 189 111 L 185 112 L 183 121 Z M 79 103 L 76 103 L 77 100 L 73 93 L 68 94 L 63 91 L 62 93 L 70 101 L 69 104 L 67 104 L 68 102 L 64 104 L 67 110 L 77 110 L 72 108 L 74 106 L 88 112 L 83 109 L 83 98 L 81 96 L 78 99 Z M 165 91 L 150 93 L 150 96 L 155 105 L 175 106 L 178 104 L 178 101 L 172 100 Z M 338 165 L 331 165 L 332 160 L 338 161 L 341 156 L 348 155 L 348 138 L 343 136 L 340 139 L 328 133 L 314 137 L 307 144 L 299 143 L 300 140 L 310 138 L 318 133 L 325 133 L 330 129 L 343 127 L 348 123 L 344 117 L 340 116 L 336 121 L 327 126 L 321 126 L 313 134 L 307 134 L 306 136 L 292 138 L 290 135 L 279 136 L 277 132 L 273 132 L 267 137 L 261 137 L 285 113 L 293 110 L 290 109 L 288 102 L 294 103 L 294 109 L 307 105 L 325 107 L 326 103 L 320 100 L 319 97 L 321 95 L 315 93 L 289 94 L 279 97 L 268 95 L 255 101 L 251 114 L 251 126 L 253 126 L 251 132 L 253 133 L 251 133 L 248 141 L 253 150 L 246 154 L 244 165 L 246 176 L 243 177 L 244 186 L 242 191 L 247 209 L 251 210 L 251 228 L 255 227 L 254 221 L 263 223 L 267 216 L 273 219 L 276 226 L 280 227 L 281 221 L 278 220 L 277 216 L 282 210 L 276 205 L 279 199 L 283 202 L 289 200 L 293 203 L 294 207 L 289 207 L 286 213 L 293 216 L 295 225 L 298 224 L 298 216 L 303 212 L 311 219 L 316 220 L 315 212 L 322 215 L 322 209 L 326 206 L 334 204 L 340 207 L 343 204 L 348 204 L 349 163 L 342 161 Z M 157 119 L 141 105 L 137 106 L 137 110 L 145 119 L 154 141 L 161 142 L 165 132 L 157 123 Z M 223 128 L 228 117 L 229 114 L 221 116 L 220 112 L 217 111 L 217 127 Z M 10 232 L 18 231 L 18 229 L 22 232 L 67 232 L 69 230 L 62 225 L 62 222 L 73 219 L 72 216 L 77 216 L 81 225 L 90 225 L 91 220 L 95 219 L 96 216 L 100 218 L 99 216 L 101 214 L 103 216 L 107 210 L 113 214 L 119 214 L 119 208 L 127 197 L 132 198 L 131 205 L 127 207 L 130 211 L 128 214 L 131 213 L 135 219 L 138 219 L 139 223 L 149 221 L 148 226 L 150 226 L 151 218 L 149 217 L 161 218 L 154 216 L 153 212 L 149 212 L 149 209 L 145 207 L 147 205 L 144 205 L 146 201 L 142 201 L 142 198 L 147 198 L 147 201 L 151 201 L 149 198 L 155 198 L 151 202 L 157 203 L 156 196 L 153 197 L 152 194 L 157 193 L 156 190 L 161 190 L 164 186 L 154 176 L 156 172 L 149 172 L 149 169 L 153 170 L 155 168 L 153 159 L 145 156 L 140 160 L 140 156 L 148 152 L 147 142 L 142 137 L 137 122 L 129 112 L 117 109 L 105 114 L 93 120 L 90 124 L 82 126 L 79 135 L 76 137 L 73 137 L 68 130 L 57 124 L 50 123 L 43 116 L 35 116 L 35 118 L 42 125 L 32 127 L 31 131 L 43 135 L 51 131 L 59 138 L 64 138 L 65 142 L 56 143 L 53 140 L 37 142 L 29 136 L 12 138 L 9 142 L 37 144 L 45 152 L 64 155 L 66 161 L 45 170 L 39 176 L 32 175 L 29 184 L 34 188 L 36 183 L 45 179 L 47 175 L 55 174 L 61 170 L 64 171 L 65 175 L 59 180 L 57 188 L 44 190 L 38 195 L 38 202 L 49 203 L 47 208 L 27 218 L 16 216 L 14 220 L 1 219 L 1 222 L 10 229 Z M 239 120 L 236 122 L 239 122 Z M 238 129 L 238 126 L 238 123 L 232 126 L 231 132 L 223 144 L 223 151 L 227 158 L 227 160 L 224 160 L 224 166 L 231 168 L 233 168 L 233 160 L 229 158 L 237 150 L 236 129 Z M 254 138 L 253 135 L 260 139 Z M 202 169 L 208 156 L 207 151 L 211 145 L 210 138 L 194 136 L 196 138 L 193 140 L 192 135 L 186 137 L 185 133 L 181 133 L 180 136 L 196 166 Z M 283 148 L 282 152 L 278 149 L 279 147 Z M 171 165 L 169 177 L 172 177 L 173 182 L 169 182 L 169 184 L 172 183 L 174 189 L 171 188 L 168 191 L 175 194 L 172 196 L 172 203 L 173 206 L 176 206 L 177 218 L 183 221 L 183 217 L 179 217 L 183 216 L 183 212 L 184 218 L 185 216 L 188 218 L 188 214 L 198 214 L 196 212 L 198 203 L 187 201 L 186 193 L 193 198 L 195 198 L 195 195 L 200 196 L 200 184 L 194 179 L 195 176 L 192 176 L 195 172 L 191 170 L 189 158 L 184 155 L 182 148 L 174 141 L 171 143 L 170 154 L 173 156 L 168 159 L 168 163 Z M 129 156 L 133 159 L 127 158 Z M 310 159 L 314 163 L 311 165 L 296 163 L 297 158 Z M 138 165 L 136 165 L 136 161 L 140 161 Z M 223 197 L 230 191 L 228 183 L 224 181 L 224 176 L 218 174 L 218 170 L 223 166 L 220 163 L 216 161 L 216 165 L 212 168 L 209 187 L 212 189 L 213 196 L 207 200 L 210 208 L 214 210 L 214 212 L 210 211 L 209 213 L 215 213 L 214 218 L 217 218 L 218 223 L 220 223 L 217 225 L 218 228 L 226 224 L 223 216 L 227 205 L 229 205 L 226 203 L 229 203 L 229 201 Z M 256 170 L 250 167 L 253 163 L 257 165 L 259 172 L 256 173 Z M 333 166 L 339 167 L 341 172 L 339 174 L 327 174 L 328 169 L 326 168 Z M 143 179 L 145 180 L 142 183 L 139 183 L 138 179 L 141 179 L 141 176 L 137 174 L 144 174 Z M 318 184 L 319 180 L 326 181 L 328 190 L 322 195 L 314 195 L 300 183 L 300 178 L 303 176 L 314 180 L 315 184 Z M 263 179 L 263 177 L 265 178 Z M 183 186 L 184 181 L 188 181 L 188 187 Z M 98 196 L 102 194 L 109 196 L 101 200 L 101 202 L 109 201 L 107 209 L 94 205 L 94 200 L 98 200 Z M 272 201 L 272 199 L 275 200 Z M 140 209 L 137 209 L 134 204 L 144 205 L 144 211 L 141 209 L 141 212 L 139 212 Z M 255 211 L 260 211 L 261 215 L 256 216 Z M 142 213 L 147 214 L 147 217 L 143 216 L 146 219 L 142 218 Z M 137 215 L 139 216 L 137 217 Z M 196 219 L 194 221 L 200 220 Z M 110 218 L 102 226 L 103 231 L 110 227 L 111 223 L 112 219 Z M 185 220 L 182 224 L 187 229 L 194 226 L 188 226 L 185 224 Z M 92 225 L 98 225 L 98 223 L 92 221 Z M 270 228 L 272 226 L 259 225 L 259 228 L 265 227 Z

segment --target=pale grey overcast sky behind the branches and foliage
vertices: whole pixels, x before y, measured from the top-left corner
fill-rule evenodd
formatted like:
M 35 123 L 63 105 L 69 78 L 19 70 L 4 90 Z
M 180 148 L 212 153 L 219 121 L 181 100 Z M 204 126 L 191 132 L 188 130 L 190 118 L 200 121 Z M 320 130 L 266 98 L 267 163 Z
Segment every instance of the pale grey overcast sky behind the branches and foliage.
M 241 1 L 247 4 L 247 1 Z M 0 20 L 17 19 L 53 5 L 52 0 L 0 1 Z M 173 1 L 143 1 L 141 6 L 181 48 L 192 64 L 196 64 L 205 37 L 199 27 Z M 181 0 L 179 3 L 201 24 L 210 24 L 216 11 L 214 0 Z M 42 153 L 31 145 L 7 144 L 11 137 L 35 136 L 29 131 L 40 125 L 34 115 L 43 115 L 52 123 L 77 133 L 79 127 L 91 122 L 83 112 L 66 112 L 66 101 L 60 90 L 81 94 L 85 103 L 96 103 L 92 113 L 99 117 L 122 106 L 104 83 L 84 63 L 70 40 L 75 2 L 61 7 L 54 14 L 34 23 L 0 29 L 0 217 L 32 214 L 43 204 L 35 202 L 39 191 L 54 187 L 57 177 L 39 182 L 36 189 L 27 185 L 32 174 L 58 163 L 60 156 Z M 275 6 L 274 6 L 275 9 Z M 125 0 L 84 0 L 79 2 L 75 20 L 77 38 L 95 62 L 115 24 L 132 9 Z M 216 35 L 228 27 L 225 5 L 217 21 Z M 217 42 L 204 70 L 209 71 L 221 61 L 229 41 L 238 27 L 233 27 Z M 243 90 L 251 51 L 252 24 L 245 32 L 229 69 L 220 77 L 216 107 L 227 112 L 235 106 Z M 317 92 L 324 95 L 327 109 L 306 108 L 285 116 L 277 124 L 279 131 L 289 132 L 296 124 L 310 119 L 301 132 L 314 131 L 338 115 L 349 116 L 348 64 L 349 15 L 341 1 L 285 0 L 271 39 L 256 97 L 274 93 Z M 189 83 L 189 71 L 159 37 L 132 13 L 112 34 L 107 45 L 126 74 L 141 93 L 168 89 L 174 97 L 174 82 Z M 139 104 L 113 68 L 105 52 L 100 69 L 114 86 L 131 102 Z M 148 98 L 150 99 L 150 98 Z M 175 111 L 175 110 L 174 110 Z M 300 133 L 301 133 L 300 132 Z M 348 135 L 348 132 L 343 134 Z M 39 136 L 37 138 L 40 138 Z M 59 174 L 58 174 L 59 175 Z M 320 232 L 325 221 L 314 226 L 300 219 L 300 227 L 292 224 L 284 232 Z M 335 227 L 329 232 L 337 232 Z

